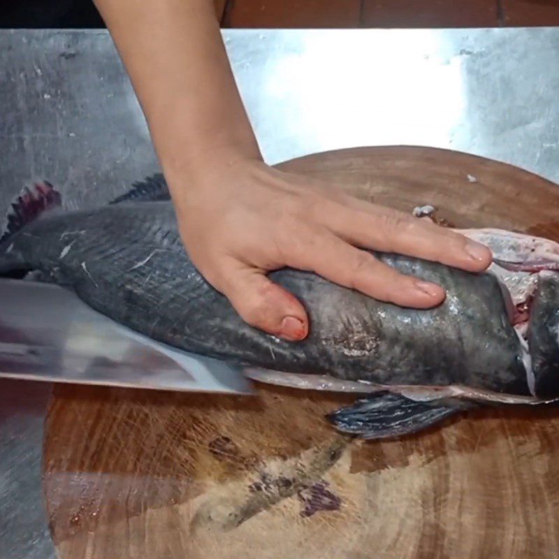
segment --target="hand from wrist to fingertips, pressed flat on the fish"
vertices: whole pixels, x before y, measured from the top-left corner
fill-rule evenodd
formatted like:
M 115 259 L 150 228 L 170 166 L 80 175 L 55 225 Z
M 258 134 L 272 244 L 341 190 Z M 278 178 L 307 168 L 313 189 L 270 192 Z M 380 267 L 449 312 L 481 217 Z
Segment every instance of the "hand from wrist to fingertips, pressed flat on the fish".
M 262 161 L 214 165 L 194 184 L 181 182 L 171 178 L 170 186 L 194 265 L 247 323 L 287 340 L 306 337 L 308 318 L 268 279 L 270 270 L 310 270 L 378 300 L 428 308 L 444 300 L 440 286 L 402 275 L 363 249 L 470 271 L 491 263 L 489 249 L 463 235 Z

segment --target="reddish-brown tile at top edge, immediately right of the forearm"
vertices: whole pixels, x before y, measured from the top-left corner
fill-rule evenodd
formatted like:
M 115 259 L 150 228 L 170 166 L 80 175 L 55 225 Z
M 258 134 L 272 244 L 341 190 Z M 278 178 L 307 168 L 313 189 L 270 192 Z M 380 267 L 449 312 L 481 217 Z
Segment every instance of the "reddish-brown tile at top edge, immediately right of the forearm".
M 224 27 L 359 27 L 361 0 L 233 0 Z

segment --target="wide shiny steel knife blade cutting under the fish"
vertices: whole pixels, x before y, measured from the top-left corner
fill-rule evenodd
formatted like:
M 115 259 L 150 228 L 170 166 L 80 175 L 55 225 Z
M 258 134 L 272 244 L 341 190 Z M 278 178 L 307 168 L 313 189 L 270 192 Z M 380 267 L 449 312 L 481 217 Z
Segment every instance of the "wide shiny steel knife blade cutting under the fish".
M 243 368 L 132 331 L 61 286 L 0 279 L 0 377 L 254 394 Z

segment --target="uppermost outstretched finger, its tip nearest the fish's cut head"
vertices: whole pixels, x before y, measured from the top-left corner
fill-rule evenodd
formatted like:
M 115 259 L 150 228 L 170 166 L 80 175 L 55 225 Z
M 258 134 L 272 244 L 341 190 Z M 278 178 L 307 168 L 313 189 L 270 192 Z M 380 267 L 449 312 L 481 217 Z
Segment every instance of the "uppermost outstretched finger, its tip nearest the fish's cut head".
M 472 272 L 485 270 L 492 260 L 488 247 L 451 229 L 363 201 L 336 205 L 322 220 L 347 242 L 381 252 L 406 254 Z

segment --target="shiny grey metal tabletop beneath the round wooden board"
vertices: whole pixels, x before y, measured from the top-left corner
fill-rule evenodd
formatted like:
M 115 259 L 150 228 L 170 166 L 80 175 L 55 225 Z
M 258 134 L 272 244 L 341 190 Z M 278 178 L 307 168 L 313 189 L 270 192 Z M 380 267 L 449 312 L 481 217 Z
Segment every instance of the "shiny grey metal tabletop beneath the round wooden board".
M 272 164 L 356 145 L 420 144 L 507 161 L 559 182 L 559 29 L 224 36 Z M 157 170 L 106 32 L 2 32 L 0 68 L 1 208 L 34 177 L 55 182 L 69 207 L 83 207 Z M 48 542 L 41 518 L 25 514 L 38 502 L 44 401 L 37 398 L 33 410 L 10 407 L 4 421 L 0 559 L 48 557 L 29 551 L 31 533 L 37 546 Z M 12 484 L 13 472 L 24 481 Z M 31 489 L 22 491 L 23 483 Z

